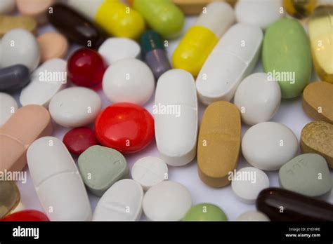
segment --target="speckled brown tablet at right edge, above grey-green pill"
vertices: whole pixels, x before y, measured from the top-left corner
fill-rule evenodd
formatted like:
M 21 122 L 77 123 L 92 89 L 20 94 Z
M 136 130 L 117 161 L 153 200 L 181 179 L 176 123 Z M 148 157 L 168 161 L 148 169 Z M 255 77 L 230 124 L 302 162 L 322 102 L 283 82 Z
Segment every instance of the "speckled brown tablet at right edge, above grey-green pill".
M 308 123 L 301 132 L 301 149 L 306 154 L 323 156 L 333 168 L 333 125 L 324 121 Z

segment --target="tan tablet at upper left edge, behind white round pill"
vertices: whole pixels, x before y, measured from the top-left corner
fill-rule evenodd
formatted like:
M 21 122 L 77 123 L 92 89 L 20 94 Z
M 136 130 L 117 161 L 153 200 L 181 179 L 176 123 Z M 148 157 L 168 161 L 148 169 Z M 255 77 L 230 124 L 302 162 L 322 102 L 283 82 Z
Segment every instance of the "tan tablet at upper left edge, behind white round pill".
M 26 29 L 32 34 L 36 33 L 37 22 L 28 16 L 0 15 L 0 37 L 11 29 Z

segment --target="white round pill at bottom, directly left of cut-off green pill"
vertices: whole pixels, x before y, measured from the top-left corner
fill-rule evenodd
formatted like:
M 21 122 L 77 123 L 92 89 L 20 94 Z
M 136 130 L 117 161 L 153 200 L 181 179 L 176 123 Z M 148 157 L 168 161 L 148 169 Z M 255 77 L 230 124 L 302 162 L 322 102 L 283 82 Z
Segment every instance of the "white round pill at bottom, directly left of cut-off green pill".
M 143 212 L 152 221 L 179 221 L 191 206 L 190 191 L 177 182 L 156 184 L 143 197 Z

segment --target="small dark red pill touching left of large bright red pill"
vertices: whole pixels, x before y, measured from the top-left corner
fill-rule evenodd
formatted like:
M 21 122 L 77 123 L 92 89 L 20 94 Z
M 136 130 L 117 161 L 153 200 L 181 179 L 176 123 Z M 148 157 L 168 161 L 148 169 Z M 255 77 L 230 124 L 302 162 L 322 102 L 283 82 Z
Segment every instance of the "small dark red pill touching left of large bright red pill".
M 98 141 L 91 128 L 81 127 L 68 131 L 63 137 L 63 143 L 70 153 L 79 155 L 89 147 L 97 145 Z

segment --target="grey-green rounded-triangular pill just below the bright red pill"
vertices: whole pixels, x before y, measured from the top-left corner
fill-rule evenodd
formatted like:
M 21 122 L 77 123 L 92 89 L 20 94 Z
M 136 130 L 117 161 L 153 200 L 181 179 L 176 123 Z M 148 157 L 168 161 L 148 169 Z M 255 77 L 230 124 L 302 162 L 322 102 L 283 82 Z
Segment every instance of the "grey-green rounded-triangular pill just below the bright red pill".
M 79 156 L 78 165 L 84 184 L 96 196 L 102 196 L 119 179 L 129 177 L 124 156 L 108 147 L 89 147 Z

